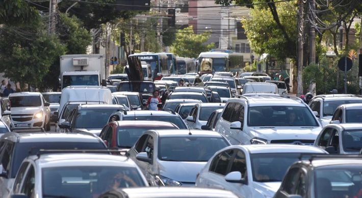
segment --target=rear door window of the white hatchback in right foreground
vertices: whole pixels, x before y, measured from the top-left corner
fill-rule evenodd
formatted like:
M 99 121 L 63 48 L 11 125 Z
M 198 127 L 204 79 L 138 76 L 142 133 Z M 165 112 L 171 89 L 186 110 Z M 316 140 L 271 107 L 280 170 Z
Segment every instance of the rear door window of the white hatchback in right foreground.
M 214 158 L 209 171 L 215 172 L 220 175 L 226 175 L 229 172 L 228 167 L 234 153 L 234 150 L 228 150 L 220 153 Z

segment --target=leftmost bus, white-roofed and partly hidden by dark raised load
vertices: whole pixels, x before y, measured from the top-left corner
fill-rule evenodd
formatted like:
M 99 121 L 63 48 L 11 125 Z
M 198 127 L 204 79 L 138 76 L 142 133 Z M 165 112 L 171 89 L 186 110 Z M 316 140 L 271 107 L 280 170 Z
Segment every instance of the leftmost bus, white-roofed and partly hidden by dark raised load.
M 140 61 L 144 61 L 151 65 L 152 80 L 161 80 L 163 76 L 169 76 L 170 71 L 167 66 L 167 55 L 157 53 L 139 53 L 130 55 L 130 57 L 138 57 Z

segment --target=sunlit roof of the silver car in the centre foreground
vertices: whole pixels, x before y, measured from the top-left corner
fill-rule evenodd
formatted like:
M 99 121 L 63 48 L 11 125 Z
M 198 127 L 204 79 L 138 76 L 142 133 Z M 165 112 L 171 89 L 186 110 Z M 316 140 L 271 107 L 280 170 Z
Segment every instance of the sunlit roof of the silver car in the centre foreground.
M 149 130 L 149 132 L 157 134 L 159 137 L 215 137 L 220 138 L 222 137 L 218 132 L 215 131 L 206 131 L 206 130 Z M 191 133 L 192 135 L 189 135 Z

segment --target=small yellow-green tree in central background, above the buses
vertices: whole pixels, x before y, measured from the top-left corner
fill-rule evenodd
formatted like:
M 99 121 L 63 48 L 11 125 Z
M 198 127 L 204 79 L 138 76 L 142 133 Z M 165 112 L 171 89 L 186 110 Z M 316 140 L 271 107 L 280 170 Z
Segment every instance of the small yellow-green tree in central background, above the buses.
M 210 51 L 215 47 L 214 43 L 205 44 L 209 37 L 209 32 L 195 34 L 193 27 L 189 26 L 176 33 L 170 51 L 180 57 L 196 58 L 201 52 Z

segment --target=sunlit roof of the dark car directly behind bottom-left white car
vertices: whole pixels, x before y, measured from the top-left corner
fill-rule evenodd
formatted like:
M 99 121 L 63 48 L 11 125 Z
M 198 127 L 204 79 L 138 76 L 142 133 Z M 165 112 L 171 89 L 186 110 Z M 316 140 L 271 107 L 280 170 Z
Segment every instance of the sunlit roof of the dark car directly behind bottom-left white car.
M 13 142 L 99 142 L 99 138 L 90 133 L 5 133 L 1 139 Z

